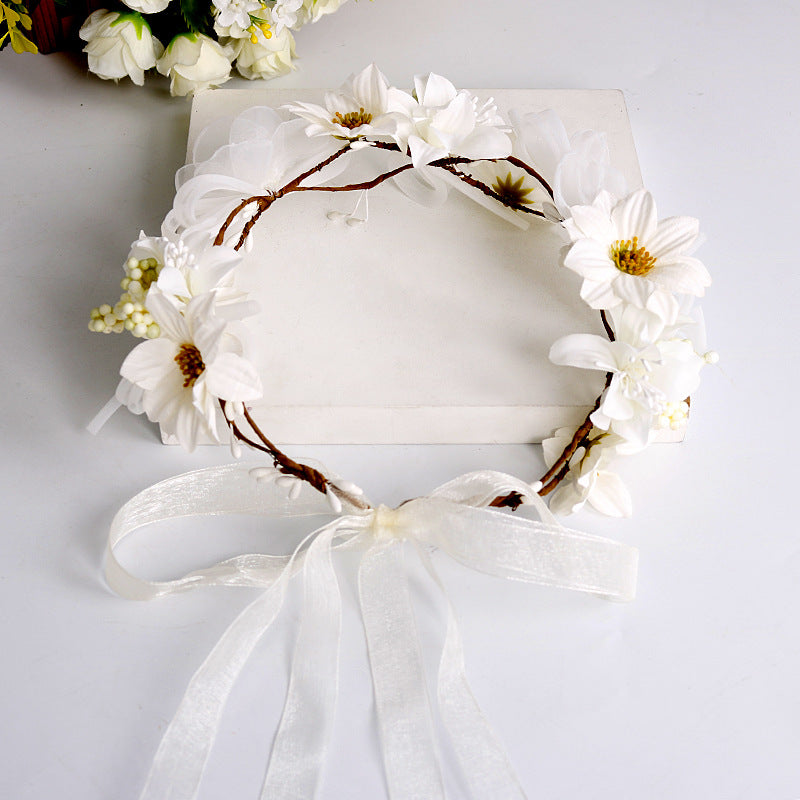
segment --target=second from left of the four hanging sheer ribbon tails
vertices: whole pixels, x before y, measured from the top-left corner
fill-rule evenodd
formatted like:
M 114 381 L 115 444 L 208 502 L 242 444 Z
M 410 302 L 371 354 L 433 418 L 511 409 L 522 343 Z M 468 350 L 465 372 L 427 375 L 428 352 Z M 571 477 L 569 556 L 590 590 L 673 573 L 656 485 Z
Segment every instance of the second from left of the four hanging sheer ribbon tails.
M 339 680 L 342 599 L 331 558 L 338 532 L 320 534 L 306 552 L 303 616 L 262 800 L 311 800 L 319 789 Z

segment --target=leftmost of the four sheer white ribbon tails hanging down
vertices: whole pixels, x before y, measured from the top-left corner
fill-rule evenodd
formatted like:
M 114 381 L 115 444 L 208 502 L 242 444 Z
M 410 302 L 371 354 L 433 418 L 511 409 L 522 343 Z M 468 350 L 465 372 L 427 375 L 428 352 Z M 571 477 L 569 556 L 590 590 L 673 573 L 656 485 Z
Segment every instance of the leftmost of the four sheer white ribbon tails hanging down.
M 197 797 L 220 718 L 253 648 L 283 605 L 292 564 L 233 621 L 195 672 L 156 752 L 140 800 Z

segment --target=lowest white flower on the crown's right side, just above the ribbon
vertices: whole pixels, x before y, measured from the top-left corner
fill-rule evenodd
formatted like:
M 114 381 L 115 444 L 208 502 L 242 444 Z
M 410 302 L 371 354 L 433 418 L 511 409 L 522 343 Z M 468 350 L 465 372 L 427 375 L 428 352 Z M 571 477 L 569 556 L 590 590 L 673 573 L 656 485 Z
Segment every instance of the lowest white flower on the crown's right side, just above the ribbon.
M 544 460 L 551 467 L 570 443 L 572 428 L 559 428 L 542 442 Z M 610 517 L 629 517 L 633 511 L 630 492 L 615 472 L 606 469 L 623 440 L 615 434 L 601 433 L 590 442 L 588 453 L 579 447 L 569 461 L 569 472 L 550 497 L 554 514 L 574 514 L 586 503 Z

